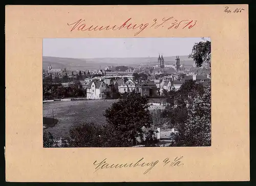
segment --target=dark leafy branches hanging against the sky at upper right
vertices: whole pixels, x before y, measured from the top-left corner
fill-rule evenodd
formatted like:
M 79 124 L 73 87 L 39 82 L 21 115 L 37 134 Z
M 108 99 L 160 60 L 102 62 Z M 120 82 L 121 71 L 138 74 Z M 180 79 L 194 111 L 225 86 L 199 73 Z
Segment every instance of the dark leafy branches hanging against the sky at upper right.
M 199 43 L 195 43 L 191 54 L 188 55 L 188 58 L 192 58 L 197 67 L 201 67 L 203 63 L 210 67 L 211 42 L 204 40 Z

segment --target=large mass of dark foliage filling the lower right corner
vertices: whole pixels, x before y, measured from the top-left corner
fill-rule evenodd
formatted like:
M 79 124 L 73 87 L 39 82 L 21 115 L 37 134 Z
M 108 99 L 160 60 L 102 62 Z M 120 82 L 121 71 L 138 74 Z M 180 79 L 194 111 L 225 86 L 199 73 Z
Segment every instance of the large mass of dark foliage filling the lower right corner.
M 178 91 L 168 92 L 164 114 L 170 127 L 178 129 L 176 146 L 210 146 L 210 82 L 206 87 L 185 82 Z

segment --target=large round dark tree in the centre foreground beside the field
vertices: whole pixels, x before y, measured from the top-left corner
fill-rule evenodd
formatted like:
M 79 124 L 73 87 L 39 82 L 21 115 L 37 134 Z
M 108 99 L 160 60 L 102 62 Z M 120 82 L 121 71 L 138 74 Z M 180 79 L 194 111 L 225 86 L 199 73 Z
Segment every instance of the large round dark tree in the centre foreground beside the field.
M 142 127 L 150 128 L 153 122 L 147 108 L 148 99 L 132 92 L 114 102 L 104 116 L 109 125 L 120 134 L 122 141 L 135 145 L 137 137 L 143 141 Z

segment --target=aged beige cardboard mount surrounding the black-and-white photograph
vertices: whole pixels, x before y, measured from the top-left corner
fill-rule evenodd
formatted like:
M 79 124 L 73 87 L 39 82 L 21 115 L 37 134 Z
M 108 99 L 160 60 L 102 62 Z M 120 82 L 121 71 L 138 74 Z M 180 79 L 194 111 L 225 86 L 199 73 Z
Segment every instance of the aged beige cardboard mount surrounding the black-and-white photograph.
M 164 27 L 150 28 L 154 19 L 160 24 L 163 18 L 169 17 L 174 17 L 173 21 L 168 21 Z M 85 19 L 88 27 L 121 26 L 129 18 L 132 18 L 129 23 L 133 25 L 150 25 L 136 36 L 135 33 L 140 31 L 138 28 L 84 32 L 74 29 L 71 32 L 72 26 L 68 25 Z M 193 20 L 192 23 L 196 21 L 196 24 L 190 29 L 189 25 L 182 29 L 182 24 L 177 29 L 168 30 L 174 19 L 178 22 Z M 7 181 L 250 179 L 248 5 L 6 6 L 5 33 Z M 210 37 L 212 146 L 43 148 L 42 39 L 76 37 Z M 180 156 L 183 156 L 184 165 L 163 166 L 165 158 L 174 160 Z M 159 163 L 147 174 L 143 173 L 148 167 L 100 169 L 94 172 L 96 166 L 93 163 L 104 158 L 110 164 L 130 164 L 142 157 L 146 163 Z

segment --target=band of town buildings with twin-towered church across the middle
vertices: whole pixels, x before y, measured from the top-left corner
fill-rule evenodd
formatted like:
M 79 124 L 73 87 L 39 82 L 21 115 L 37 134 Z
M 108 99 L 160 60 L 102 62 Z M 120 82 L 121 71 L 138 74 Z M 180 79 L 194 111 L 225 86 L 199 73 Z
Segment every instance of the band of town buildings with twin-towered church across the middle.
M 204 71 L 206 67 L 201 67 Z M 84 91 L 86 99 L 114 98 L 116 93 L 137 92 L 141 96 L 159 97 L 164 91 L 178 90 L 189 80 L 206 85 L 210 73 L 195 73 L 196 66 L 186 68 L 180 62 L 179 56 L 173 64 L 164 64 L 163 56 L 158 57 L 158 65 L 153 67 L 106 66 L 98 70 L 55 69 L 49 64 L 48 71 L 43 71 L 43 84 L 55 86 L 76 86 Z

